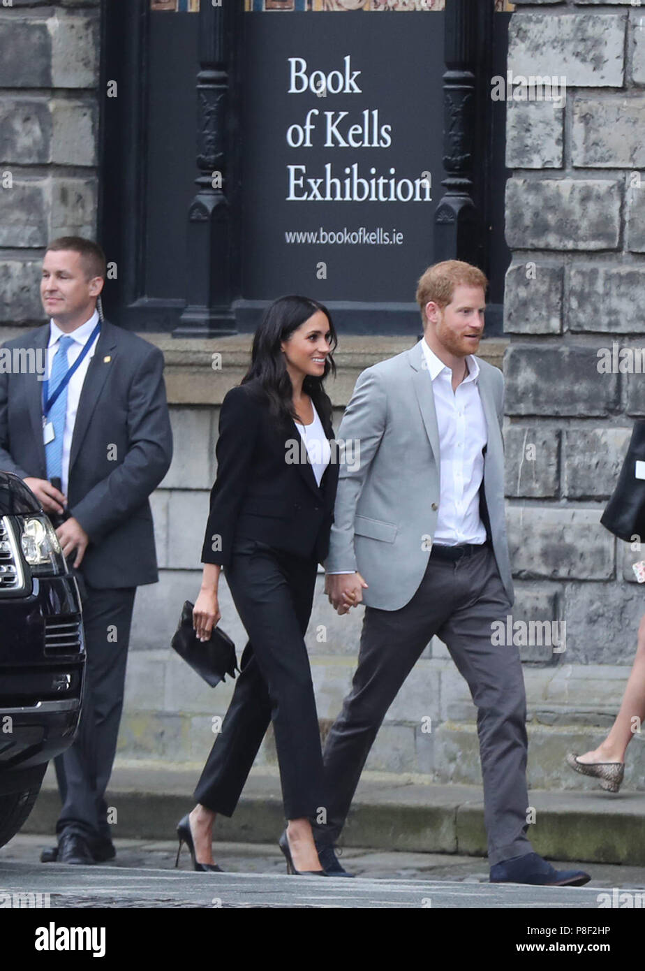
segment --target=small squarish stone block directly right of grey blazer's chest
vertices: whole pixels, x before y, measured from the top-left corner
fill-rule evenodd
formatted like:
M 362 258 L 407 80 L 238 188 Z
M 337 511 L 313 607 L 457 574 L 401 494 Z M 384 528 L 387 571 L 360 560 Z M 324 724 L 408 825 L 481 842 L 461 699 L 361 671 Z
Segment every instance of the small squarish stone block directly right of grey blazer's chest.
M 508 496 L 557 496 L 560 438 L 555 428 L 509 425 L 504 432 L 504 481 Z

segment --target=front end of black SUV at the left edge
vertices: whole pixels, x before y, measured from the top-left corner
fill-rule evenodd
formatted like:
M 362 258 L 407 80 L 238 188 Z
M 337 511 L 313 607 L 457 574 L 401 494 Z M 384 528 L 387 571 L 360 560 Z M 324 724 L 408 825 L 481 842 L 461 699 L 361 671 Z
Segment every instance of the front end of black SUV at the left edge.
M 33 492 L 0 472 L 0 846 L 74 741 L 84 665 L 77 582 Z

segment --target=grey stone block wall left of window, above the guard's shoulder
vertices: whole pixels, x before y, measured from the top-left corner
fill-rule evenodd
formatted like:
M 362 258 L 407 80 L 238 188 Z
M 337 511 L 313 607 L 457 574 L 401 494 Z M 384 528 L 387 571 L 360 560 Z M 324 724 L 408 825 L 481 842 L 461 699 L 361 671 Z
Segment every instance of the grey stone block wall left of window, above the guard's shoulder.
M 0 323 L 44 318 L 37 291 L 27 295 L 34 250 L 96 235 L 100 7 L 0 6 Z

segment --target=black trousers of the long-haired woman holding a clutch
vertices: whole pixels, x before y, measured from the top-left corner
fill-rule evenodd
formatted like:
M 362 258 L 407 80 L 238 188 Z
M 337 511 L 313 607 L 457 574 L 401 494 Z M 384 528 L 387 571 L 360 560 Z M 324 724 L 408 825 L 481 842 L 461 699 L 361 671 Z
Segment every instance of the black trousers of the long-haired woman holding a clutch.
M 317 564 L 238 539 L 224 568 L 248 634 L 231 704 L 195 799 L 232 816 L 253 759 L 274 723 L 284 815 L 315 817 L 325 805 L 316 704 L 306 653 Z

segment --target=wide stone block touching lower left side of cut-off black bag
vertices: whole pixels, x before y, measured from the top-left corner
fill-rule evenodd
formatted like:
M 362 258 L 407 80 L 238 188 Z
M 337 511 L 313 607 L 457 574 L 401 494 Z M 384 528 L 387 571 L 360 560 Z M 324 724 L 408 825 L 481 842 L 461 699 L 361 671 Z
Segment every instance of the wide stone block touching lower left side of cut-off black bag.
M 600 509 L 512 506 L 507 519 L 513 575 L 526 580 L 612 578 L 615 543 L 614 537 L 600 525 L 601 512 Z M 580 586 L 583 590 L 588 588 L 588 585 Z

